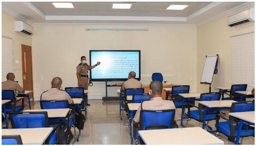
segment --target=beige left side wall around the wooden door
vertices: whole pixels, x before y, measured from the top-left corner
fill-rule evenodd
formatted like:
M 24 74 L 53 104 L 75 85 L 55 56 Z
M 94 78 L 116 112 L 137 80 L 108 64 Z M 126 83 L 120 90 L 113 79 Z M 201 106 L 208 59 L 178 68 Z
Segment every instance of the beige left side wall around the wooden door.
M 16 81 L 19 81 L 19 84 L 23 86 L 23 80 L 22 80 L 22 62 L 21 62 L 21 44 L 24 45 L 32 45 L 32 37 L 23 35 L 19 32 L 15 32 L 14 29 L 14 22 L 20 21 L 19 19 L 16 19 L 12 17 L 11 15 L 7 14 L 6 12 L 2 11 L 2 36 L 13 38 L 13 54 L 14 54 L 14 60 L 18 60 L 19 64 L 14 64 L 13 66 L 18 66 L 21 69 L 20 70 L 14 70 Z M 33 47 L 32 47 L 33 51 Z

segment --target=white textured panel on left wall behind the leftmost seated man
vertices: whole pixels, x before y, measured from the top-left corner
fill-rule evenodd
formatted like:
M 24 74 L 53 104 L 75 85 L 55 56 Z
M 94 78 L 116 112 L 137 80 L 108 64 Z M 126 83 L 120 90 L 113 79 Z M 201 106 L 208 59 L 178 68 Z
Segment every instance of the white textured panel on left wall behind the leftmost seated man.
M 2 81 L 7 73 L 13 73 L 12 39 L 2 36 Z

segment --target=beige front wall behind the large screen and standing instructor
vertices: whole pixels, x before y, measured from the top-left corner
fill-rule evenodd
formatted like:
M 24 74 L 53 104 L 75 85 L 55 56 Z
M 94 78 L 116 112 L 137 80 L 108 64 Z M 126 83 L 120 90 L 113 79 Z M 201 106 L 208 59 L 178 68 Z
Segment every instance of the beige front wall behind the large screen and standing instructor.
M 196 91 L 196 27 L 148 27 L 149 31 L 139 32 L 85 31 L 86 27 L 93 28 L 34 27 L 32 55 L 36 97 L 51 87 L 50 81 L 55 76 L 62 78 L 62 88 L 77 86 L 76 66 L 83 55 L 89 62 L 89 50 L 141 50 L 143 84 L 150 83 L 152 73 L 160 72 L 167 83 L 188 84 Z M 108 89 L 109 95 L 117 95 L 117 88 Z M 89 87 L 89 97 L 101 98 L 102 95 L 105 95 L 105 82 L 94 81 Z

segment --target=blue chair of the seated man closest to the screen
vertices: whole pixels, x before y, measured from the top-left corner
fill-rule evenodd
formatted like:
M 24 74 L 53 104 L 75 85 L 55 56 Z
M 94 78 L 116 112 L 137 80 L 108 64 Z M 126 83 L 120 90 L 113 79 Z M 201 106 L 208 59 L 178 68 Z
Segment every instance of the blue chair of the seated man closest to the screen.
M 133 94 L 135 93 L 144 93 L 144 88 L 127 88 L 125 89 L 124 91 L 124 97 L 122 97 L 121 99 L 121 107 L 123 108 L 122 109 L 122 117 L 121 117 L 121 120 L 124 119 L 124 110 L 127 112 L 128 111 L 128 105 L 127 103 L 131 103 L 132 101 L 128 101 L 127 100 L 127 96 L 132 96 Z M 129 117 L 129 113 L 128 113 L 128 118 Z M 127 125 L 124 123 L 124 120 L 123 120 L 123 124 L 124 125 Z

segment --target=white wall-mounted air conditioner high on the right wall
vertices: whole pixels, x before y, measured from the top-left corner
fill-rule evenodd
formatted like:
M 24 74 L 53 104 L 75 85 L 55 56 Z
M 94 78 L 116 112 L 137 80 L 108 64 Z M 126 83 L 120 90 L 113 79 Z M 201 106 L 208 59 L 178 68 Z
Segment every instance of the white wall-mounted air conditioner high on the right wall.
M 227 24 L 229 27 L 236 27 L 251 22 L 254 22 L 254 8 L 239 12 L 227 18 Z

